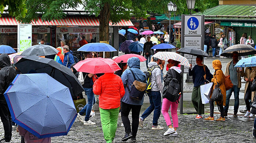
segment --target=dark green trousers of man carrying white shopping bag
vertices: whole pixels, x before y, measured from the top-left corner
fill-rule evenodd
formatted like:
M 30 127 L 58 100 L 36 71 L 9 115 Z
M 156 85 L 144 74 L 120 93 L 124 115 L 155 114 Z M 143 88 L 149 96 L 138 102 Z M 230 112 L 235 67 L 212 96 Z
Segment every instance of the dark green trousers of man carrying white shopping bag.
M 193 88 L 191 100 L 192 100 L 193 106 L 196 109 L 197 114 L 199 115 L 205 114 L 205 105 L 202 104 L 200 86 Z

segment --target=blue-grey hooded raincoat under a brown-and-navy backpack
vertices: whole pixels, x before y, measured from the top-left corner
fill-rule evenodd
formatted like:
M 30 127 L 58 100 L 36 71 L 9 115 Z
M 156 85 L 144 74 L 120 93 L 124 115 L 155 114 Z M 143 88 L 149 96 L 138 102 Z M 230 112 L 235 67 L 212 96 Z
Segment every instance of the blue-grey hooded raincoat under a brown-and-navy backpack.
M 127 64 L 129 68 L 132 70 L 132 72 L 134 72 L 135 78 L 137 81 L 141 81 L 142 83 L 147 83 L 146 75 L 140 69 L 139 58 L 137 57 L 129 58 L 127 61 Z M 126 84 L 128 85 L 128 87 L 131 87 L 132 83 L 134 82 L 134 77 L 132 75 L 132 72 L 129 69 L 126 69 L 121 76 L 122 82 L 125 87 L 124 88 L 125 94 L 124 94 L 124 97 L 121 99 L 121 101 L 127 104 L 132 104 L 132 105 L 142 105 L 144 98 L 142 98 L 142 100 L 136 100 L 136 99 L 130 98 L 129 91 L 126 87 Z

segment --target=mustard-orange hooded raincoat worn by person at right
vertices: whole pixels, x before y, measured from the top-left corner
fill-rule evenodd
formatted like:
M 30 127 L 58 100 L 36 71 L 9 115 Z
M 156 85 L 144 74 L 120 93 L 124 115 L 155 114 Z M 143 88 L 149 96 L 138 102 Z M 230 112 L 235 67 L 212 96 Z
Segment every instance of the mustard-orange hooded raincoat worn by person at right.
M 217 83 L 220 85 L 221 94 L 223 94 L 223 106 L 225 106 L 226 105 L 226 88 L 224 84 L 225 75 L 221 70 L 222 65 L 220 60 L 213 60 L 213 67 L 215 72 L 214 72 L 213 78 L 211 79 L 211 82 L 214 83 L 214 87 L 215 85 L 217 85 Z M 210 95 L 210 98 L 211 98 L 211 95 Z M 221 104 L 221 102 L 218 102 L 218 104 Z

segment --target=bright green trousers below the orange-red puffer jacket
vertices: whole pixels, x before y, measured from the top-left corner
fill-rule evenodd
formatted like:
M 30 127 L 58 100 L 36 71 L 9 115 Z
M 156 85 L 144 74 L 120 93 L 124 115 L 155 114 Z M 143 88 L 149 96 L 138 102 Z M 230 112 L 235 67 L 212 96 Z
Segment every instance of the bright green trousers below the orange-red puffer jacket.
M 107 143 L 111 143 L 115 138 L 115 131 L 117 131 L 118 114 L 119 107 L 115 109 L 100 108 L 100 120 L 102 122 L 104 139 Z

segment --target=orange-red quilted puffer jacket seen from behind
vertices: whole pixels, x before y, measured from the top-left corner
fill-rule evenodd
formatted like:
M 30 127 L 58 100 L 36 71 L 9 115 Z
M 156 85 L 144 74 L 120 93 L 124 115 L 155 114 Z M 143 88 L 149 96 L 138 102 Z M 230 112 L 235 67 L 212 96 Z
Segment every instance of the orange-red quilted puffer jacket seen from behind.
M 124 96 L 124 84 L 121 77 L 114 73 L 105 73 L 93 84 L 93 93 L 99 95 L 99 107 L 115 109 L 120 107 L 120 100 Z

